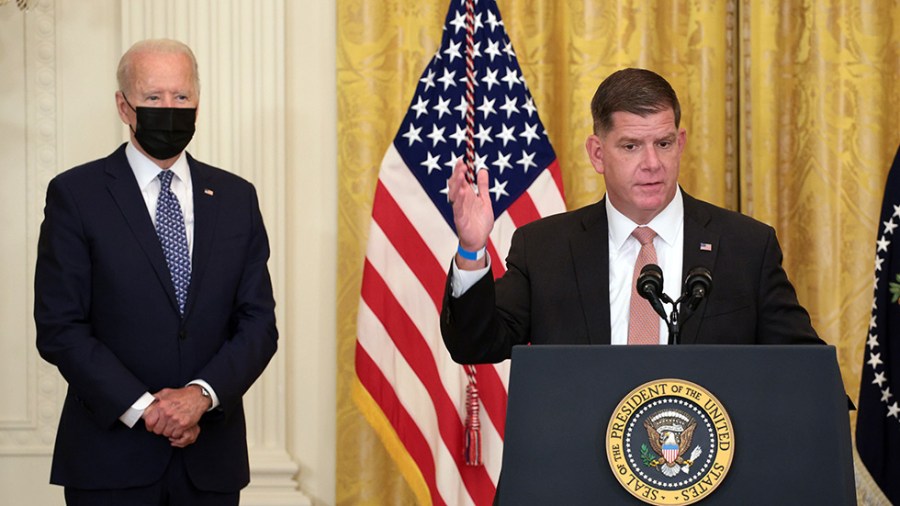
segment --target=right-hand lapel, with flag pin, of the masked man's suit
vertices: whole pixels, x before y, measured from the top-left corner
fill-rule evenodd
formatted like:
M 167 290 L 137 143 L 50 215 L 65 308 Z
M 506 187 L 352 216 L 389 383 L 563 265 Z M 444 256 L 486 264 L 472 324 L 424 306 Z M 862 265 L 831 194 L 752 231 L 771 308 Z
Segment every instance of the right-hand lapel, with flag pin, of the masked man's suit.
M 194 248 L 191 255 L 191 286 L 188 288 L 188 298 L 184 308 L 185 318 L 188 317 L 194 306 L 203 281 L 203 274 L 209 264 L 219 209 L 215 181 L 213 181 L 211 171 L 190 155 L 188 155 L 188 165 L 191 169 L 191 183 L 194 187 Z

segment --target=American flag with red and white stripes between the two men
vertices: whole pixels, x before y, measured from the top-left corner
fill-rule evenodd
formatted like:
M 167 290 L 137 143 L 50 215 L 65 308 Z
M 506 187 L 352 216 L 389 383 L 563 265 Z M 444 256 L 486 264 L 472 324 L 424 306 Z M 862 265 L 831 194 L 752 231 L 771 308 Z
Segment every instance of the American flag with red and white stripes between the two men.
M 472 0 L 470 0 L 472 1 Z M 556 155 L 493 0 L 469 18 L 473 162 L 487 168 L 494 276 L 516 227 L 565 210 Z M 441 46 L 416 86 L 378 176 L 357 321 L 357 406 L 422 504 L 490 504 L 500 474 L 508 363 L 475 367 L 483 465 L 467 465 L 467 374 L 439 314 L 458 240 L 447 179 L 466 152 L 466 0 L 452 0 Z

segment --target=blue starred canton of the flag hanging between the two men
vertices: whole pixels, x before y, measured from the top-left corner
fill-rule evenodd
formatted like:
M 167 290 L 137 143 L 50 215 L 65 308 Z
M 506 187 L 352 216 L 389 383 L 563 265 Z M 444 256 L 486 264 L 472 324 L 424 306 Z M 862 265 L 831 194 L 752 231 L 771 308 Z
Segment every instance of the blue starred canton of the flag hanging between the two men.
M 451 5 L 441 47 L 422 74 L 394 146 L 455 230 L 447 180 L 466 153 L 465 0 Z M 494 217 L 555 159 L 493 0 L 476 1 L 475 168 L 487 168 Z

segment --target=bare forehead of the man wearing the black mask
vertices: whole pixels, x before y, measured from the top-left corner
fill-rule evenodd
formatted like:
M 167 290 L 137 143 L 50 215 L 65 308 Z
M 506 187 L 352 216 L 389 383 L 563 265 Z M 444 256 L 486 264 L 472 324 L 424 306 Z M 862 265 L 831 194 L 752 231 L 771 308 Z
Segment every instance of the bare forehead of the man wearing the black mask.
M 140 91 L 194 92 L 191 59 L 182 53 L 140 52 L 132 58 L 132 86 Z

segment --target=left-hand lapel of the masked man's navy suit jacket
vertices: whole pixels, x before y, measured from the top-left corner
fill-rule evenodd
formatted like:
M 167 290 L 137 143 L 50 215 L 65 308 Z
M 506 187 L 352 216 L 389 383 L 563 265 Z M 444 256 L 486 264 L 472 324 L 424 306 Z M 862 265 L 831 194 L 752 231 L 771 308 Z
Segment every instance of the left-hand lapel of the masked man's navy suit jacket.
M 178 302 L 175 299 L 175 287 L 172 285 L 169 266 L 166 264 L 166 257 L 160 246 L 159 237 L 156 235 L 156 229 L 153 228 L 153 222 L 150 220 L 150 213 L 147 212 L 147 205 L 144 203 L 141 189 L 128 164 L 128 158 L 125 156 L 124 144 L 106 159 L 106 173 L 109 176 L 106 185 L 109 193 L 125 217 L 125 221 L 138 244 L 141 245 L 141 249 L 144 250 L 144 254 L 147 255 L 147 260 L 153 266 L 156 277 L 168 295 L 172 308 L 177 311 Z

